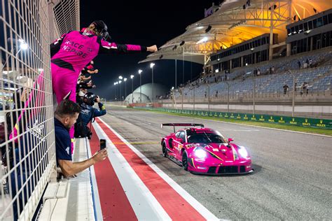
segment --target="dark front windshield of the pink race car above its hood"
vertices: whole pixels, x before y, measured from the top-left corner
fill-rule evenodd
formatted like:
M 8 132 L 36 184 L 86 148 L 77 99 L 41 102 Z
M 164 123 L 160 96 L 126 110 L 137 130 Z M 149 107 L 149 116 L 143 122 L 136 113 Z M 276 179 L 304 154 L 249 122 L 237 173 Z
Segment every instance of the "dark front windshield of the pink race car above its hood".
M 187 131 L 188 143 L 227 143 L 216 131 Z

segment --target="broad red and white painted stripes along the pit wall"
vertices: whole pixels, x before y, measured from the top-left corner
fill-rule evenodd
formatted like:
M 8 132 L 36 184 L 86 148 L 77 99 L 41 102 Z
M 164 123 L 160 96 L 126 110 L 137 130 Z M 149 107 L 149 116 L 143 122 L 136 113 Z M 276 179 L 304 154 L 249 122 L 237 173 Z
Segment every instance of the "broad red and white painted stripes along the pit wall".
M 99 150 L 99 138 L 106 139 L 109 151 L 109 160 L 92 171 L 97 218 L 219 220 L 100 118 L 92 133 L 97 136 L 90 140 L 91 152 Z

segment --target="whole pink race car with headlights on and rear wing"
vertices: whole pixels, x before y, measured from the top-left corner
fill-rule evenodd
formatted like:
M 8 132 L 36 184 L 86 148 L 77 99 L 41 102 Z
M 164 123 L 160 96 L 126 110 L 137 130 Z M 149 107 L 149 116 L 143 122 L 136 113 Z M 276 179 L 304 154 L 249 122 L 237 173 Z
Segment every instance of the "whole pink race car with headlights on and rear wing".
M 162 155 L 191 173 L 242 174 L 251 173 L 251 157 L 246 148 L 230 143 L 219 131 L 203 124 L 170 123 L 174 133 L 161 139 Z M 188 127 L 190 126 L 190 127 Z M 175 131 L 175 127 L 188 127 Z M 198 128 L 200 127 L 200 128 Z

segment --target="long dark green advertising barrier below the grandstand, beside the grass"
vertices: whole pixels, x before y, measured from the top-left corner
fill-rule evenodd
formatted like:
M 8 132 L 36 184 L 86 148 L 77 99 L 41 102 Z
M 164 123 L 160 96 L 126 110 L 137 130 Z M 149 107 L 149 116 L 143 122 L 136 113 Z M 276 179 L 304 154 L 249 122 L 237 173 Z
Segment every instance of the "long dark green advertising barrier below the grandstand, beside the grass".
M 207 110 L 179 110 L 170 108 L 151 108 L 151 107 L 134 107 L 135 109 L 157 110 L 167 113 L 182 113 L 188 115 L 197 115 L 202 117 L 227 118 L 252 122 L 265 122 L 273 124 L 284 124 L 299 127 L 314 127 L 321 129 L 332 129 L 332 120 L 330 119 L 314 119 L 305 117 L 289 117 L 276 115 L 258 115 L 250 113 L 228 113 Z

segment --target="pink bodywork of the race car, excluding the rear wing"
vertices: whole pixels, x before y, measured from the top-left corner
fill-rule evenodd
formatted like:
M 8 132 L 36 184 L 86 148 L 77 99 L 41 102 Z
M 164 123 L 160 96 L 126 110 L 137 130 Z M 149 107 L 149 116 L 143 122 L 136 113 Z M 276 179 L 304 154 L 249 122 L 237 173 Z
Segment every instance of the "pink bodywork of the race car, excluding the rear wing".
M 188 129 L 194 129 L 195 131 L 214 131 L 208 128 L 186 128 L 179 131 L 186 131 Z M 187 143 L 181 142 L 181 138 L 175 136 L 176 133 L 172 133 L 169 136 L 162 138 L 161 145 L 165 143 L 167 147 L 167 154 L 170 157 L 174 157 L 179 162 L 182 162 L 182 156 L 184 152 L 188 158 L 188 171 L 193 173 L 208 173 L 208 174 L 239 174 L 239 173 L 251 173 L 253 171 L 251 166 L 251 157 L 248 153 L 247 157 L 242 157 L 239 153 L 241 146 L 230 143 L 232 138 L 228 139 L 228 143 Z M 170 146 L 172 143 L 172 147 Z M 195 148 L 202 148 L 207 152 L 205 158 L 199 158 L 195 155 Z

